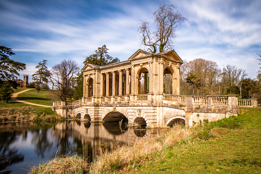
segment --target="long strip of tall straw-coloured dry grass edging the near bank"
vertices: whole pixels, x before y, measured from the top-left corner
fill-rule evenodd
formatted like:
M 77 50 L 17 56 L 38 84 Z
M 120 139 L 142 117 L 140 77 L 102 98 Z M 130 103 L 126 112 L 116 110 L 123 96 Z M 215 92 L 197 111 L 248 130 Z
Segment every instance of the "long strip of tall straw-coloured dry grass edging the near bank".
M 89 173 L 115 172 L 128 167 L 128 165 L 134 166 L 136 163 L 140 163 L 148 154 L 161 151 L 181 139 L 189 138 L 191 133 L 191 129 L 175 126 L 161 137 L 138 139 L 133 146 L 119 147 L 110 153 L 103 152 L 101 157 L 90 165 Z

